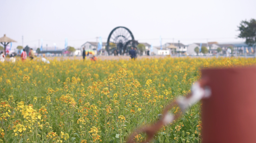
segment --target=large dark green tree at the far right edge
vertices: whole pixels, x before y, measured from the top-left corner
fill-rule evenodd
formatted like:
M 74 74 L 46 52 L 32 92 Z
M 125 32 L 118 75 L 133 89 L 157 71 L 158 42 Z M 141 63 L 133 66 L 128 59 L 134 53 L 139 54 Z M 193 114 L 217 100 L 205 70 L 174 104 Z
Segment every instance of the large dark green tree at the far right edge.
M 237 26 L 240 34 L 239 38 L 245 38 L 246 44 L 253 46 L 256 44 L 256 20 L 251 19 L 250 21 L 241 21 L 240 26 Z

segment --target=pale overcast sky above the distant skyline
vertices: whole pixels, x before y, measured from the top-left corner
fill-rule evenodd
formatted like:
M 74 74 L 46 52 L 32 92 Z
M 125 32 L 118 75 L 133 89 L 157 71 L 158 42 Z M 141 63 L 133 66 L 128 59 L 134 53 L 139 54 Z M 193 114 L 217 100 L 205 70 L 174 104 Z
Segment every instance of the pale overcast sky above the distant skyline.
M 256 19 L 256 0 L 1 0 L 0 36 L 32 48 L 79 48 L 97 36 L 107 41 L 113 28 L 125 26 L 135 40 L 154 46 L 166 42 L 241 42 L 237 26 Z

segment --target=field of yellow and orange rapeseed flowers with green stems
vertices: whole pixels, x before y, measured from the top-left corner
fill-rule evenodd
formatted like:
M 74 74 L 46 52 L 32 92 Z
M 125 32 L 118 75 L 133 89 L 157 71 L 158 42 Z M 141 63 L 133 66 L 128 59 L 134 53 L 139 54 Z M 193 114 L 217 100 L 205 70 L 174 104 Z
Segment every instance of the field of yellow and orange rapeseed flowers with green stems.
M 154 123 L 200 69 L 253 66 L 254 58 L 36 60 L 0 63 L 0 143 L 125 143 Z M 174 107 L 172 113 L 179 112 Z M 153 143 L 200 143 L 201 103 L 163 126 Z M 145 139 L 135 134 L 135 142 Z

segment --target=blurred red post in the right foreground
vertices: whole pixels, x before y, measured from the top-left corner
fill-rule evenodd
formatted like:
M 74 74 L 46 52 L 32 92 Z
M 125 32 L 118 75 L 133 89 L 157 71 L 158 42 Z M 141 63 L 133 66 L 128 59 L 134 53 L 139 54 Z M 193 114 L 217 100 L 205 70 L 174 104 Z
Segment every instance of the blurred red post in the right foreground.
M 256 67 L 204 69 L 203 143 L 256 143 Z

